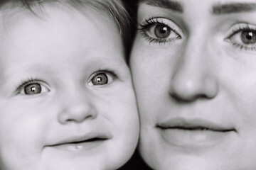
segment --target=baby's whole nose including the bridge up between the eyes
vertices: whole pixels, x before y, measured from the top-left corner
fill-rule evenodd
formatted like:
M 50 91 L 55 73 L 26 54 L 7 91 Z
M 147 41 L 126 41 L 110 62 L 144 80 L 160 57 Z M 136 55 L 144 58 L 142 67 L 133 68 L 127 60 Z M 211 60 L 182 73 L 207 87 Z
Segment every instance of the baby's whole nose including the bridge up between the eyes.
M 82 123 L 97 117 L 92 95 L 85 86 L 72 84 L 64 87 L 63 91 L 63 95 L 60 95 L 62 98 L 58 113 L 58 121 L 61 124 Z

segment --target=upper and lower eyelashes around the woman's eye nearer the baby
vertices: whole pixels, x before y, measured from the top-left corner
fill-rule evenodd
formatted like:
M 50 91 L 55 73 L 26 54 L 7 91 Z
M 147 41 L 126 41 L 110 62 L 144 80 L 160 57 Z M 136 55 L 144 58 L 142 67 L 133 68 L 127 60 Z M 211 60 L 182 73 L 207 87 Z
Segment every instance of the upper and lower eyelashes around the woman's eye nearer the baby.
M 148 28 L 150 28 L 151 26 L 153 25 L 161 25 L 161 26 L 166 26 L 166 27 L 169 27 L 171 29 L 171 31 L 173 31 L 174 33 L 176 33 L 176 35 L 178 35 L 178 39 L 181 39 L 181 35 L 177 33 L 177 31 L 173 28 L 171 28 L 169 25 L 165 24 L 164 22 L 160 22 L 159 21 L 159 18 L 156 18 L 156 17 L 151 17 L 149 19 L 146 19 L 144 21 L 144 23 L 139 23 L 138 26 L 137 26 L 137 29 L 142 33 L 142 36 L 147 40 L 149 41 L 149 44 L 153 43 L 159 43 L 159 44 L 165 44 L 166 42 L 169 42 L 173 39 L 168 39 L 168 38 L 151 38 L 149 35 L 146 34 L 146 31 Z

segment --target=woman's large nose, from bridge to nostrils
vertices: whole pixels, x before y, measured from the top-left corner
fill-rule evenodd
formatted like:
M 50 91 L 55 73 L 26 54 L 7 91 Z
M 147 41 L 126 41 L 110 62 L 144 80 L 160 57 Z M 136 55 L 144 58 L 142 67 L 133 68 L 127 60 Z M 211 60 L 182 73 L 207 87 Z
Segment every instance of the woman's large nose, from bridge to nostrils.
M 171 77 L 169 94 L 173 98 L 191 102 L 218 94 L 214 63 L 207 54 L 203 47 L 187 44 Z

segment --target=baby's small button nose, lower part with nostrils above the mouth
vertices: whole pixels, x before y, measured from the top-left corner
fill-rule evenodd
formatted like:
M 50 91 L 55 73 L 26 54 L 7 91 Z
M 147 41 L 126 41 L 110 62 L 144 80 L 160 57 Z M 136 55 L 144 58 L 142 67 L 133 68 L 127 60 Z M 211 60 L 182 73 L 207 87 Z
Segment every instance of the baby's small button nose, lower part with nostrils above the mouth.
M 87 93 L 74 92 L 63 98 L 62 109 L 58 113 L 60 124 L 82 123 L 97 117 L 97 110 Z

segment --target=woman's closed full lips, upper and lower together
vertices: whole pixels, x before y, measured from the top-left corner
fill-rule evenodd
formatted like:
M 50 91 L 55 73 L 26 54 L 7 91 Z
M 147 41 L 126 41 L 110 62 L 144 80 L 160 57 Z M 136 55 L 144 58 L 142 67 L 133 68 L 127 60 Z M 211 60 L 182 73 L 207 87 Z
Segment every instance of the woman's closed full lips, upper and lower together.
M 229 125 L 219 125 L 202 119 L 174 118 L 156 125 L 164 141 L 181 148 L 210 148 L 223 145 L 237 132 Z

